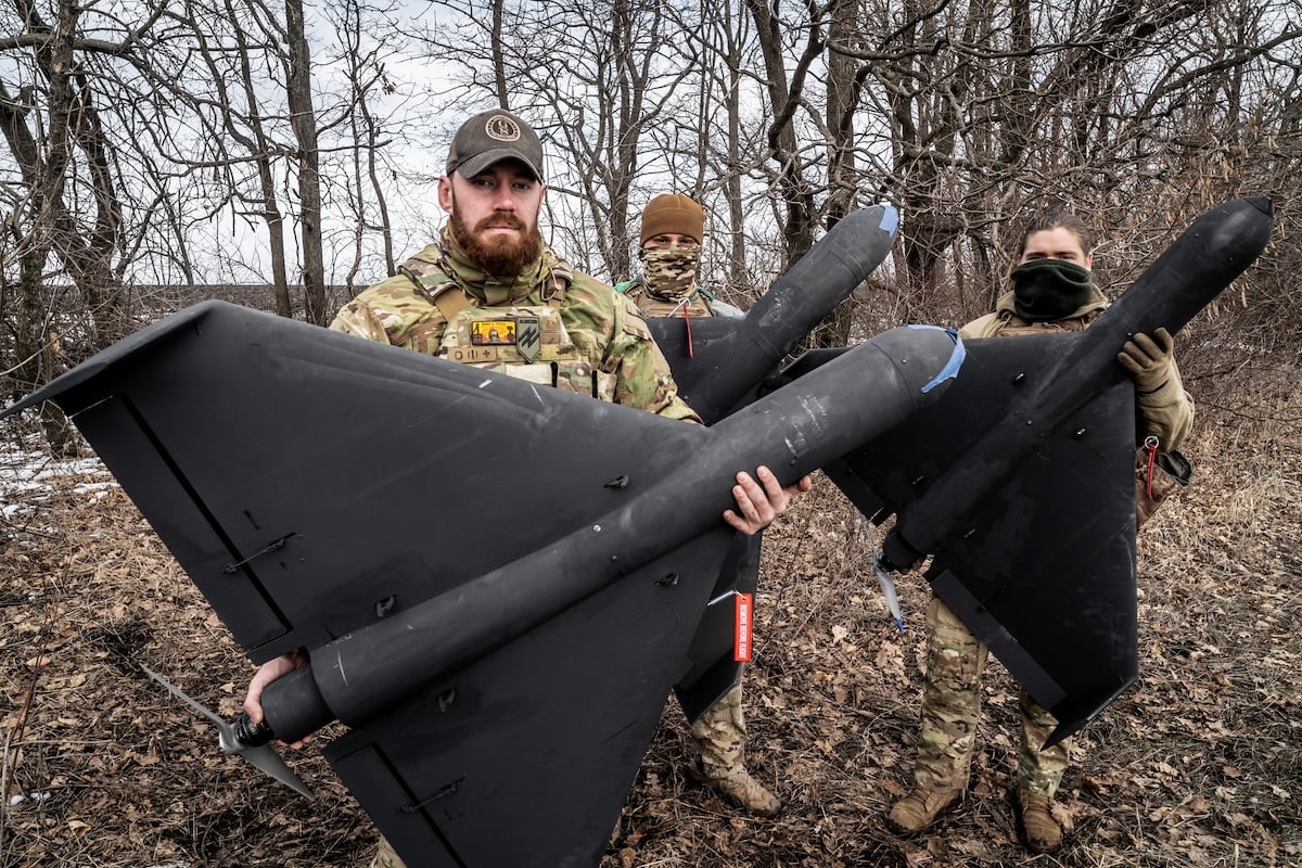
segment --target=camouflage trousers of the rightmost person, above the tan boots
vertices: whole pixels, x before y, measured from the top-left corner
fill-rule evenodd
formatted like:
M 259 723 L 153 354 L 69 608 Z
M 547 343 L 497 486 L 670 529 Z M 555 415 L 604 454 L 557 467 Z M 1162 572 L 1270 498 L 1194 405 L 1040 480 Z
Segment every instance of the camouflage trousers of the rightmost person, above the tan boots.
M 932 596 L 927 608 L 927 673 L 922 694 L 922 731 L 914 780 L 922 790 L 961 790 L 967 785 L 976 722 L 980 718 L 980 677 L 988 649 L 963 622 Z M 1021 691 L 1022 747 L 1017 789 L 1053 798 L 1070 753 L 1070 739 L 1048 750 L 1040 746 L 1057 721 Z

